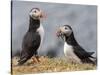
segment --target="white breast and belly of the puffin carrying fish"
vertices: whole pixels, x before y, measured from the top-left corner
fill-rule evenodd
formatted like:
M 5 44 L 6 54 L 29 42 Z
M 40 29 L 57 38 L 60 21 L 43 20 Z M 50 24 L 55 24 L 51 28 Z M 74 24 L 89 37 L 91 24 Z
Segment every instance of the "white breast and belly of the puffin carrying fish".
M 67 59 L 71 58 L 72 60 L 74 59 L 74 60 L 80 62 L 80 59 L 73 52 L 73 47 L 71 45 L 67 44 L 66 42 L 64 44 L 64 54 Z

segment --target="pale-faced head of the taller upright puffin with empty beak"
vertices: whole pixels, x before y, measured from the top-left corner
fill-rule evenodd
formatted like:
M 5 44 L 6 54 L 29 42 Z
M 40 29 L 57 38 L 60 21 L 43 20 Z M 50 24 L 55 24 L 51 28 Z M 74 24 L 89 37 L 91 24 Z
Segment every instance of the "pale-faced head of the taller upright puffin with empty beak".
M 43 17 L 42 11 L 39 8 L 33 8 L 30 13 L 30 17 L 33 19 L 40 19 Z

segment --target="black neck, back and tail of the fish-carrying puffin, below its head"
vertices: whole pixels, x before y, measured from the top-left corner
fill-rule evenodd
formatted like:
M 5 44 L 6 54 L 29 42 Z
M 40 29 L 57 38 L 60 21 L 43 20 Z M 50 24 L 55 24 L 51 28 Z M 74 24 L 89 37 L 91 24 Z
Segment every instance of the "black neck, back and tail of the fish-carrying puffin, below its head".
M 66 37 L 66 42 L 73 47 L 74 53 L 81 59 L 83 63 L 92 63 L 95 64 L 90 58 L 94 58 L 91 56 L 94 52 L 86 52 L 75 40 L 74 34 L 69 37 Z

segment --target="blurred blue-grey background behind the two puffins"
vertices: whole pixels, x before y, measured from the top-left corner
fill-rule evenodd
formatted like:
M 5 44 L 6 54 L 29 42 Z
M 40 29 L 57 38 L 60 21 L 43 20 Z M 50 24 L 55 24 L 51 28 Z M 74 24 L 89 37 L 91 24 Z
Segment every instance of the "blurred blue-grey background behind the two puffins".
M 59 3 L 13 1 L 12 3 L 12 55 L 21 51 L 22 39 L 29 27 L 29 11 L 38 7 L 46 18 L 41 21 L 45 36 L 39 55 L 62 57 L 64 42 L 56 36 L 59 26 L 68 24 L 77 42 L 88 52 L 97 54 L 97 6 Z

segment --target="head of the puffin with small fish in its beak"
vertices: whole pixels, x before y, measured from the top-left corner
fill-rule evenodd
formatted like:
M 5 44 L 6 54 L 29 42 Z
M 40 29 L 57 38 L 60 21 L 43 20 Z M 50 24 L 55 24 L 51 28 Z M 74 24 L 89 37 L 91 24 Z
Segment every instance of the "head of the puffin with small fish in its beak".
M 69 37 L 73 33 L 72 28 L 69 25 L 63 25 L 58 28 L 57 36 L 58 37 Z

